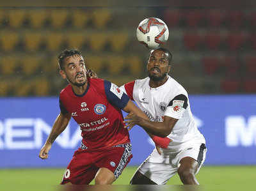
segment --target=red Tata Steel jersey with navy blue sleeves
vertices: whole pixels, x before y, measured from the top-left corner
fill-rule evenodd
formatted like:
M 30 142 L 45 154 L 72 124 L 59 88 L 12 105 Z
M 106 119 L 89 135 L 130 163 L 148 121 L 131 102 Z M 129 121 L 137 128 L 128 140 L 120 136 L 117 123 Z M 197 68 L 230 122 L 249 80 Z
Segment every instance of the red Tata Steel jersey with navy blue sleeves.
M 108 80 L 88 79 L 83 95 L 68 85 L 60 93 L 61 113 L 70 113 L 82 132 L 86 149 L 102 149 L 130 142 L 121 109 L 129 97 Z

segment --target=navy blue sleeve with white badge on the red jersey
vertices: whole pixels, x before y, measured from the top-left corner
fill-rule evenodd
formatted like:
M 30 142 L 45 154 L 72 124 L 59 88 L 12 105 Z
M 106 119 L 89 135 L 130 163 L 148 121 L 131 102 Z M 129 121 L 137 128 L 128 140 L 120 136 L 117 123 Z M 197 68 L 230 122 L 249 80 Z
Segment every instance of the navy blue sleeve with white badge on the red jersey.
M 108 80 L 104 80 L 104 88 L 108 101 L 115 107 L 124 109 L 130 100 L 129 96 L 118 88 L 118 86 Z

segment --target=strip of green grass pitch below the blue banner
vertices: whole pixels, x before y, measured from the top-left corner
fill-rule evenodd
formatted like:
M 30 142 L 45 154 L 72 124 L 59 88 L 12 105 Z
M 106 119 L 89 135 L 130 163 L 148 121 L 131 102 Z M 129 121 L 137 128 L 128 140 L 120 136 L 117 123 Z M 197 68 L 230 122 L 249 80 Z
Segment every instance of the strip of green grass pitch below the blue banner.
M 0 190 L 56 190 L 61 187 L 58 184 L 64 170 L 0 169 Z M 127 167 L 114 185 L 127 185 L 135 170 L 136 167 Z M 196 178 L 203 187 L 212 190 L 248 190 L 255 188 L 256 166 L 204 166 Z M 177 174 L 168 181 L 168 185 L 181 184 Z

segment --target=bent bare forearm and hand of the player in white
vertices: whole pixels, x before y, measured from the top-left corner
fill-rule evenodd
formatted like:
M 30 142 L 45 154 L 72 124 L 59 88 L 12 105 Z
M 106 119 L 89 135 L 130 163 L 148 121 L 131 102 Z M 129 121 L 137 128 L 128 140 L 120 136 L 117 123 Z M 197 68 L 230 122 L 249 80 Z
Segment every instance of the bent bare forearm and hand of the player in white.
M 159 137 L 166 137 L 172 132 L 173 126 L 177 123 L 178 119 L 164 116 L 163 122 L 148 121 L 136 114 L 128 114 L 126 116 L 127 125 L 125 127 L 131 128 L 131 126 L 140 125 L 149 134 L 157 135 Z

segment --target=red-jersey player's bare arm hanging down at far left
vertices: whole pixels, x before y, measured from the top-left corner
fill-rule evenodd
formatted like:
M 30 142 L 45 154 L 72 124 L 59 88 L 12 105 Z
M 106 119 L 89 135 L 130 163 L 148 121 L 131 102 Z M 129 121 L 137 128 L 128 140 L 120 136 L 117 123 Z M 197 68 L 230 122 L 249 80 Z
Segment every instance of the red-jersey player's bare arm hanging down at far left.
M 49 150 L 51 149 L 52 143 L 55 141 L 55 139 L 60 135 L 63 130 L 68 125 L 68 122 L 70 121 L 71 114 L 59 114 L 56 120 L 54 121 L 54 124 L 52 126 L 51 133 L 49 134 L 47 140 L 45 141 L 44 146 L 40 150 L 39 157 L 42 159 L 48 158 Z

